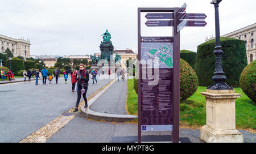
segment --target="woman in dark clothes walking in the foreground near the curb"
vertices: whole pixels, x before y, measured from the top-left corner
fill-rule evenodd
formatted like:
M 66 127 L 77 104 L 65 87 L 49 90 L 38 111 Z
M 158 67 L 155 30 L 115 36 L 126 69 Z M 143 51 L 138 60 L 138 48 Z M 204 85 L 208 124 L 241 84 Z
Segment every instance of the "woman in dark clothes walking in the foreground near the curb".
M 87 89 L 88 89 L 89 73 L 88 73 L 88 71 L 85 71 L 85 65 L 84 64 L 81 63 L 79 65 L 79 72 L 76 73 L 76 78 L 75 79 L 78 82 L 77 83 L 78 87 L 77 87 L 76 108 L 75 108 L 74 112 L 77 112 L 79 102 L 80 102 L 80 99 L 81 99 L 81 94 L 82 94 L 82 97 L 84 97 L 84 101 L 85 101 L 84 108 L 88 107 L 87 99 L 86 99 L 86 92 L 87 92 Z

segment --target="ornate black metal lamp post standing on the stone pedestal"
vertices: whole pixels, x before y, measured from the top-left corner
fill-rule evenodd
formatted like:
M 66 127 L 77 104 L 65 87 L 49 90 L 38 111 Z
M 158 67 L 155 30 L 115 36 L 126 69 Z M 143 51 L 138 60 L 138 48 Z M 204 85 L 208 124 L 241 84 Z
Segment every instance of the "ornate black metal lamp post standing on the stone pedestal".
M 224 71 L 222 69 L 222 62 L 221 62 L 221 54 L 223 51 L 221 50 L 221 44 L 220 44 L 220 19 L 218 16 L 218 4 L 222 0 L 213 0 L 210 2 L 214 5 L 215 8 L 215 34 L 216 34 L 216 46 L 214 50 L 214 54 L 216 55 L 216 62 L 215 62 L 215 71 L 214 76 L 212 77 L 212 80 L 214 83 L 207 87 L 207 89 L 212 90 L 224 90 L 224 89 L 233 89 L 232 87 L 229 87 L 228 84 L 225 83 L 226 76 L 224 76 Z

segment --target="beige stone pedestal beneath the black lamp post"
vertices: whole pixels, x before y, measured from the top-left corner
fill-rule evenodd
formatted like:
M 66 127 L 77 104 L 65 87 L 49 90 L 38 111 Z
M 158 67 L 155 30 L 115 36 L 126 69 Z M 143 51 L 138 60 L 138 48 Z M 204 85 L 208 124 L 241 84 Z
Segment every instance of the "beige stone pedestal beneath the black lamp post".
M 206 99 L 207 125 L 200 129 L 200 138 L 208 143 L 243 143 L 236 130 L 236 99 L 241 96 L 232 90 L 201 92 Z

